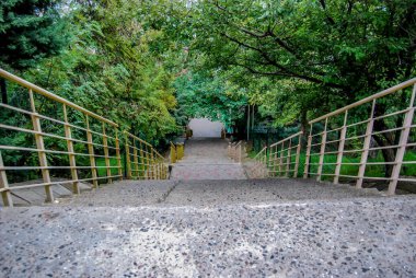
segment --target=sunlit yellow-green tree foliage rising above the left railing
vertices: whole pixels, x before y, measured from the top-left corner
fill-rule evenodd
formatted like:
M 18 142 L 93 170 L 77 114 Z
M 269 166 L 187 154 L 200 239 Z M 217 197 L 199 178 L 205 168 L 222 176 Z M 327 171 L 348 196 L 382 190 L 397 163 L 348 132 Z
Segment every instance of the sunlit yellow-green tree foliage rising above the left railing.
M 163 32 L 145 27 L 151 16 L 135 7 L 142 8 L 129 1 L 72 7 L 71 47 L 27 71 L 26 78 L 154 140 L 176 127 L 171 116 L 176 105 L 173 74 L 161 60 L 169 48 L 154 46 Z

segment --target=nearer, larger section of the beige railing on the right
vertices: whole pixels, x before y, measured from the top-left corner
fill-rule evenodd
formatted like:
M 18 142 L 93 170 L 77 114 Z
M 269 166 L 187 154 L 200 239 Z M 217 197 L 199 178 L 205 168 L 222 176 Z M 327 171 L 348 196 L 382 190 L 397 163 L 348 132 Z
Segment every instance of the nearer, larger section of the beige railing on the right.
M 378 104 L 384 102 L 385 99 L 383 97 L 388 95 L 394 96 L 398 91 L 412 89 L 412 86 L 413 90 L 408 93 L 409 97 L 406 102 L 406 107 L 400 107 L 400 102 L 397 102 L 397 107 L 391 105 L 383 111 L 383 115 L 378 115 L 380 114 Z M 398 181 L 416 182 L 416 177 L 401 177 L 402 165 L 416 166 L 416 161 L 404 161 L 406 152 L 412 151 L 411 147 L 415 144 L 409 141 L 411 132 L 415 131 L 414 128 L 416 127 L 413 124 L 415 94 L 416 78 L 309 121 L 310 135 L 308 138 L 304 177 L 314 175 L 317 181 L 321 181 L 324 176 L 332 176 L 334 184 L 338 184 L 342 177 L 355 178 L 357 188 L 361 188 L 366 179 L 385 181 L 389 182 L 389 195 L 395 193 Z M 354 116 L 355 118 L 360 117 L 362 111 L 365 111 L 362 105 L 370 103 L 371 109 L 366 118 L 361 116 L 359 121 L 348 123 Z M 361 113 L 357 113 L 357 109 L 361 109 Z M 340 127 L 333 127 L 333 123 L 339 121 L 343 123 Z M 389 125 L 385 124 L 382 128 L 379 125 L 375 128 L 374 125 L 381 121 L 389 123 Z M 314 131 L 314 127 L 319 124 L 324 127 L 323 131 Z M 332 137 L 331 140 L 328 140 L 330 136 Z M 396 138 L 393 140 L 396 142 L 388 143 L 384 140 L 385 146 L 379 146 L 374 140 L 375 136 L 379 136 L 379 138 L 380 136 Z M 372 161 L 370 153 L 372 157 L 380 158 L 381 155 L 378 151 L 386 149 L 394 152 L 394 161 Z M 312 159 L 314 155 L 319 155 L 317 161 Z M 336 157 L 336 162 L 332 161 L 331 155 Z M 347 159 L 359 159 L 360 162 L 349 162 Z M 357 165 L 357 170 L 354 173 L 345 174 L 345 167 L 343 166 L 346 165 Z M 391 174 L 383 177 L 371 176 L 369 175 L 369 166 L 371 165 L 384 167 L 385 165 L 392 165 Z

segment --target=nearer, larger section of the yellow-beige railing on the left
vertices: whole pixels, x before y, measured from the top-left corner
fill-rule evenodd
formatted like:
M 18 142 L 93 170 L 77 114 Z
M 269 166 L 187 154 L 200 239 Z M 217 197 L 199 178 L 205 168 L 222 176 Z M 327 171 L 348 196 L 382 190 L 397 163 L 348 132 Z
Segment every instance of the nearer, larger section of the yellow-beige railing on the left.
M 118 125 L 114 121 L 106 119 L 102 116 L 99 116 L 95 113 L 92 113 L 68 100 L 65 100 L 60 96 L 57 96 L 45 89 L 42 89 L 35 84 L 32 84 L 31 82 L 23 80 L 19 77 L 13 76 L 12 73 L 0 69 L 0 78 L 4 78 L 9 80 L 12 83 L 15 83 L 20 86 L 23 86 L 27 89 L 27 100 L 30 102 L 30 107 L 15 107 L 9 104 L 0 104 L 1 112 L 4 111 L 13 111 L 16 114 L 20 115 L 26 115 L 32 119 L 32 128 L 31 127 L 19 127 L 15 126 L 15 124 L 7 124 L 1 123 L 0 129 L 7 129 L 7 130 L 13 130 L 16 132 L 30 135 L 33 137 L 35 141 L 35 147 L 33 148 L 25 148 L 26 146 L 0 146 L 0 189 L 1 195 L 3 197 L 3 204 L 5 206 L 13 206 L 13 201 L 11 198 L 11 192 L 22 188 L 32 188 L 32 187 L 44 187 L 45 194 L 46 194 L 46 200 L 47 201 L 54 201 L 54 190 L 51 189 L 53 185 L 58 184 L 57 182 L 51 181 L 51 174 L 50 170 L 70 170 L 70 177 L 71 179 L 67 183 L 72 184 L 72 189 L 74 194 L 80 194 L 80 187 L 79 183 L 81 182 L 91 182 L 93 187 L 96 188 L 99 186 L 99 181 L 106 179 L 107 183 L 112 183 L 114 177 L 117 177 L 119 179 L 123 179 L 123 167 L 122 167 L 122 158 L 119 153 L 119 139 L 118 139 Z M 49 99 L 50 101 L 54 101 L 55 103 L 61 104 L 61 113 L 60 117 L 51 117 L 42 115 L 39 111 L 37 111 L 38 103 L 36 102 L 35 94 L 45 96 Z M 79 125 L 73 125 L 70 123 L 69 112 L 68 107 L 71 107 L 78 112 L 80 112 L 84 117 L 84 127 L 81 127 Z M 92 130 L 91 129 L 91 123 L 90 118 L 96 119 L 101 124 L 101 130 Z M 45 131 L 44 125 L 42 125 L 42 120 L 48 120 L 56 125 L 58 128 L 61 128 L 65 132 L 65 135 L 57 135 L 51 131 Z M 73 136 L 73 130 L 77 129 L 77 134 L 83 134 L 86 137 L 85 139 L 77 139 Z M 94 136 L 94 138 L 93 138 Z M 53 138 L 56 140 L 61 140 L 67 143 L 67 150 L 51 150 L 47 149 L 47 144 L 45 144 L 45 140 L 48 138 Z M 101 142 L 99 140 L 102 140 Z M 76 152 L 76 146 L 74 144 L 82 144 L 88 149 L 88 153 L 81 153 Z M 97 149 L 103 150 L 104 155 L 97 154 Z M 4 165 L 1 151 L 2 150 L 16 150 L 16 151 L 24 151 L 28 153 L 36 153 L 38 159 L 37 165 L 30 165 L 30 166 L 8 166 Z M 8 153 L 8 152 L 3 152 Z M 47 154 L 49 153 L 56 153 L 56 154 L 63 154 L 68 155 L 68 161 L 62 161 L 65 165 L 50 165 Z M 79 157 L 88 157 L 90 161 L 90 165 L 79 165 L 77 164 L 77 158 Z M 105 166 L 97 166 L 95 163 L 95 159 L 100 158 L 103 159 L 105 162 Z M 112 165 L 112 160 L 116 160 L 117 165 Z M 15 186 L 9 186 L 9 181 L 7 173 L 8 171 L 39 171 L 42 173 L 42 179 L 43 183 L 37 184 L 26 184 L 24 186 L 22 185 L 15 185 Z M 79 172 L 80 170 L 90 170 L 91 177 L 88 178 L 80 178 L 79 175 L 84 174 Z M 103 173 L 102 176 L 99 176 L 97 170 L 104 170 L 105 174 Z M 113 170 L 117 170 L 117 175 L 114 175 L 112 173 Z M 61 183 L 61 182 L 60 182 Z

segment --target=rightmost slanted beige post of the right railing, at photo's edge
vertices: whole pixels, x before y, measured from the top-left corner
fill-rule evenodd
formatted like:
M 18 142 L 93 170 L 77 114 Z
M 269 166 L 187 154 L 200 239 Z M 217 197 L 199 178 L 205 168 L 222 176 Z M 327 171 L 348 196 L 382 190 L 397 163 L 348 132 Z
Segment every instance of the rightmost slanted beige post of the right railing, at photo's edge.
M 411 126 L 413 123 L 413 116 L 415 114 L 415 107 L 414 107 L 415 95 L 416 95 L 416 84 L 414 84 L 413 86 L 411 104 L 408 106 L 408 111 L 406 112 L 406 115 L 404 116 L 404 120 L 403 120 L 403 129 L 400 136 L 398 148 L 396 150 L 396 158 L 394 160 L 395 163 L 394 163 L 391 179 L 389 183 L 389 190 L 388 190 L 389 195 L 394 195 L 396 190 L 400 172 L 402 170 L 403 158 L 406 151 L 408 135 L 411 132 Z

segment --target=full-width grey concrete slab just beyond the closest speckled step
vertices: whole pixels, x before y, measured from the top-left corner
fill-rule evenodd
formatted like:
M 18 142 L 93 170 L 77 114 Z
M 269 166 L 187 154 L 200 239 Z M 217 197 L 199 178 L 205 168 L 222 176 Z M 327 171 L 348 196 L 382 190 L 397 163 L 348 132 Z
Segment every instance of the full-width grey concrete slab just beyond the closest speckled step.
M 58 204 L 53 204 L 53 206 L 210 207 L 357 197 L 381 197 L 381 194 L 377 189 L 356 189 L 349 185 L 316 183 L 303 178 L 124 181 L 102 186 L 77 197 L 58 199 Z

